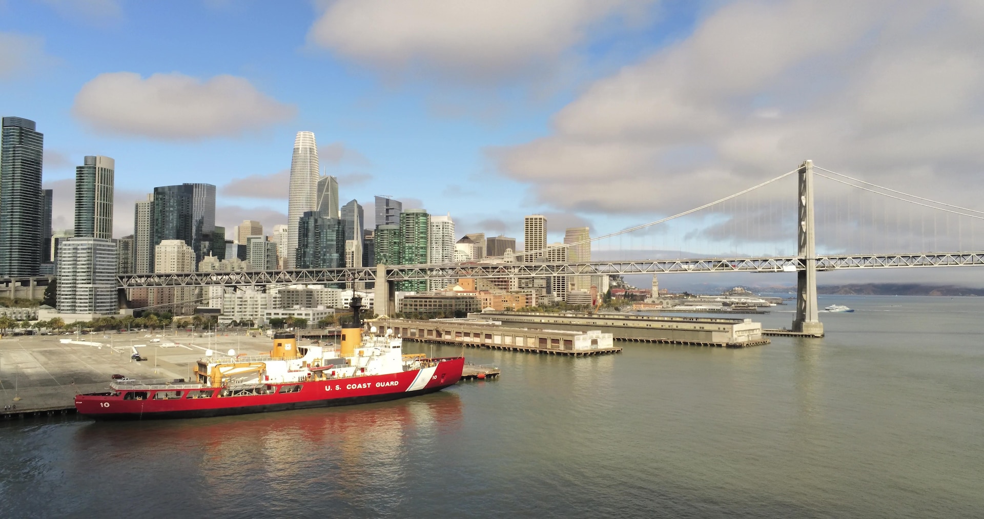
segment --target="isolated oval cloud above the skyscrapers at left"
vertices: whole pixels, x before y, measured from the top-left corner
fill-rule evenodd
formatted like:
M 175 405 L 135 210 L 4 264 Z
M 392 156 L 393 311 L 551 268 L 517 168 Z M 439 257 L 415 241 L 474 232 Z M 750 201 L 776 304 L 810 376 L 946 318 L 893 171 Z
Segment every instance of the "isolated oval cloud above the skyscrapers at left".
M 163 140 L 238 136 L 295 113 L 243 78 L 221 75 L 203 82 L 172 73 L 143 79 L 133 72 L 96 76 L 76 95 L 72 110 L 102 132 Z

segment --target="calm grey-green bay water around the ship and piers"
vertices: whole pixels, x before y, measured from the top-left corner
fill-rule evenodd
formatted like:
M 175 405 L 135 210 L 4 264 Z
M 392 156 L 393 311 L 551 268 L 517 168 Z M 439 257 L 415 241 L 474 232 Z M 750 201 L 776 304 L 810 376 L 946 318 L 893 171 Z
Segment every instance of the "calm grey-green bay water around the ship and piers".
M 980 517 L 984 298 L 822 297 L 820 340 L 625 344 L 367 406 L 0 427 L 3 517 Z M 756 316 L 788 326 L 792 307 Z M 461 349 L 408 344 L 435 355 Z

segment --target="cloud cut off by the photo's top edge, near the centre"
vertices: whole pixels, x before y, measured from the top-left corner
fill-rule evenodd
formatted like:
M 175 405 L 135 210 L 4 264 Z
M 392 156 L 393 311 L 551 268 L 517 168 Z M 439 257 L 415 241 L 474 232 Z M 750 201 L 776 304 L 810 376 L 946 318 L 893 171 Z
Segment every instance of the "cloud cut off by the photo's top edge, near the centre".
M 593 25 L 651 0 L 337 0 L 308 40 L 387 72 L 423 68 L 464 80 L 551 66 Z

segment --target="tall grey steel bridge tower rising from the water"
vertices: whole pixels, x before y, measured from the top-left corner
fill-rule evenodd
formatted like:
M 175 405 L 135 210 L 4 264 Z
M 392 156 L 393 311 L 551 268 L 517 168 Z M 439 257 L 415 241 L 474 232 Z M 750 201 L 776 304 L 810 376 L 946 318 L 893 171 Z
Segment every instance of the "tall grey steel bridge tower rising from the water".
M 804 268 L 796 271 L 796 318 L 793 331 L 824 336 L 824 323 L 817 308 L 817 240 L 813 224 L 813 160 L 799 168 L 799 218 L 797 250 Z

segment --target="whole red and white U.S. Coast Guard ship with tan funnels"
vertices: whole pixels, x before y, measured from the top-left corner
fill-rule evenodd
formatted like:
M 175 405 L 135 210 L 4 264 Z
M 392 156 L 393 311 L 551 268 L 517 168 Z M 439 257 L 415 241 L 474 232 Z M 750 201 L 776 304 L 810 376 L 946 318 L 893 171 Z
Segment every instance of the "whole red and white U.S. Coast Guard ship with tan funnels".
M 403 355 L 392 330 L 364 333 L 361 303 L 352 298 L 338 350 L 277 332 L 269 355 L 202 359 L 188 381 L 117 380 L 110 391 L 76 395 L 75 407 L 100 420 L 217 417 L 396 400 L 461 379 L 463 357 Z

